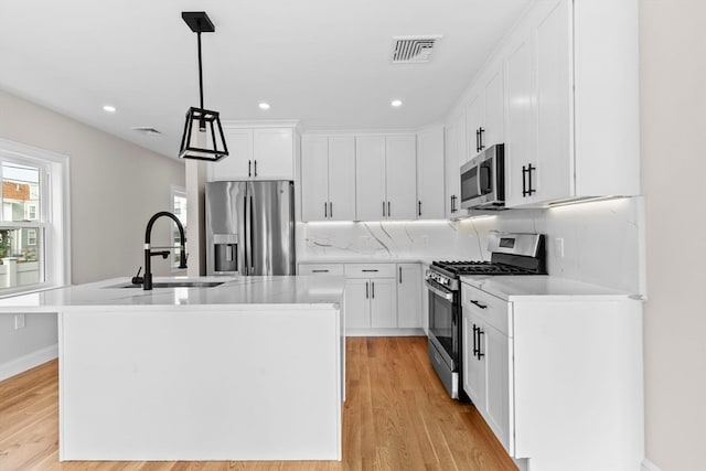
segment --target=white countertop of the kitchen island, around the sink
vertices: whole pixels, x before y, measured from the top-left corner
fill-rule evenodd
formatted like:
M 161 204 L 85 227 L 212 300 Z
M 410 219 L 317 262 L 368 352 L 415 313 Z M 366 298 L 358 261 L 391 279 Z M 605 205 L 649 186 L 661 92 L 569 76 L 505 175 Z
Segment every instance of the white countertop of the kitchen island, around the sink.
M 0 299 L 0 312 L 55 312 L 64 308 L 86 310 L 101 308 L 164 308 L 204 310 L 228 309 L 331 309 L 343 298 L 343 277 L 156 277 L 154 282 L 175 280 L 224 281 L 211 288 L 122 288 L 129 278 L 114 278 L 67 288 Z

